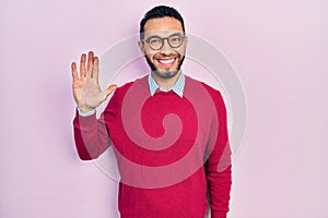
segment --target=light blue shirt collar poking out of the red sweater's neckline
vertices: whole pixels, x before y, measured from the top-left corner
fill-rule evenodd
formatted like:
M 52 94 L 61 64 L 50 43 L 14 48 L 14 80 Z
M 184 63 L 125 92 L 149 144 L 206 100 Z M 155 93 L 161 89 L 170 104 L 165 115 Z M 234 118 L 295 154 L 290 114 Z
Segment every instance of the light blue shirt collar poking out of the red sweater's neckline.
M 150 89 L 151 96 L 153 96 L 156 93 L 156 90 L 160 89 L 160 90 L 163 90 L 163 92 L 173 90 L 179 97 L 183 97 L 184 96 L 184 88 L 185 88 L 185 74 L 181 73 L 179 78 L 176 81 L 176 83 L 167 90 L 157 85 L 157 83 L 154 81 L 151 73 L 148 76 L 148 84 L 149 84 L 149 89 Z

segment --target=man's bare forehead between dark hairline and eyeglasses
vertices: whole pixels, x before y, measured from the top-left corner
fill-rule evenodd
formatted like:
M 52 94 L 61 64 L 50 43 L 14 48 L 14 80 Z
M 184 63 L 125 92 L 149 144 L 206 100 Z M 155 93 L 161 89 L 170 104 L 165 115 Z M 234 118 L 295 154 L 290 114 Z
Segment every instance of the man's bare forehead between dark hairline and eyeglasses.
M 181 23 L 169 16 L 151 19 L 148 20 L 144 24 L 144 32 L 150 33 L 172 33 L 172 32 L 183 32 Z

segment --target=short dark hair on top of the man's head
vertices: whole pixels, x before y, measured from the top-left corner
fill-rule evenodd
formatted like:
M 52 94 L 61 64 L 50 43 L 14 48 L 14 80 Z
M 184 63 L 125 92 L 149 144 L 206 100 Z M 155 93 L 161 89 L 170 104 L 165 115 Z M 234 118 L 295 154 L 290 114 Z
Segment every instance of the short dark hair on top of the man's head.
M 159 7 L 151 9 L 150 11 L 148 11 L 144 14 L 143 19 L 141 20 L 141 22 L 140 22 L 140 38 L 141 39 L 143 38 L 144 24 L 147 23 L 148 20 L 161 19 L 161 17 L 165 17 L 165 16 L 174 17 L 174 19 L 178 20 L 181 23 L 183 31 L 185 32 L 184 19 L 179 14 L 179 12 L 172 7 L 159 5 Z

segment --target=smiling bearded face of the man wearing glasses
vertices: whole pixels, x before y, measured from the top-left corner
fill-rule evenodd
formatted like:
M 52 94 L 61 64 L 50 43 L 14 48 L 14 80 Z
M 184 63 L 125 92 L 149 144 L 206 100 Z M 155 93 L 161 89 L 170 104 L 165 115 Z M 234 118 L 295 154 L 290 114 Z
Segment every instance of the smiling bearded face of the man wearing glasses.
M 169 38 L 164 39 L 162 47 L 152 46 L 161 44 L 161 38 L 166 37 Z M 179 72 L 184 62 L 187 43 L 188 38 L 184 38 L 181 23 L 174 17 L 165 16 L 151 19 L 145 23 L 144 41 L 139 41 L 139 46 L 152 71 L 161 78 L 172 78 Z

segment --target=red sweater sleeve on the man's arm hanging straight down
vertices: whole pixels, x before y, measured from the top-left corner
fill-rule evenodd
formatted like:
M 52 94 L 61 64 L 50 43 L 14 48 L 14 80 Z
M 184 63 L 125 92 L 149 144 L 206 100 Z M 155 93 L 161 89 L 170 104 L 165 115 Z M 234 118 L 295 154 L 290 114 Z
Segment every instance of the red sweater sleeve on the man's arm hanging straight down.
M 226 218 L 232 184 L 231 147 L 226 124 L 226 109 L 221 94 L 214 96 L 218 122 L 212 122 L 204 164 L 212 218 Z

